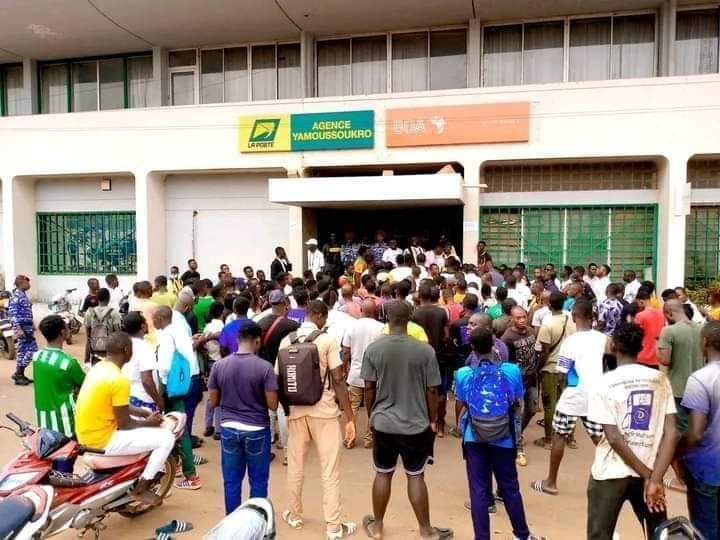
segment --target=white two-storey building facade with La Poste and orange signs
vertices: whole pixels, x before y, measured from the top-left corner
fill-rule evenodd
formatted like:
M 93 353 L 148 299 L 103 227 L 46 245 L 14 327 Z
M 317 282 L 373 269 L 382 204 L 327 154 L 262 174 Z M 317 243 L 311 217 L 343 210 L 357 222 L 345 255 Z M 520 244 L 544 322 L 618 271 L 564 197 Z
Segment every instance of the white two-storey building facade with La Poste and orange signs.
M 718 275 L 717 4 L 7 4 L 0 263 L 36 297 L 347 228 Z

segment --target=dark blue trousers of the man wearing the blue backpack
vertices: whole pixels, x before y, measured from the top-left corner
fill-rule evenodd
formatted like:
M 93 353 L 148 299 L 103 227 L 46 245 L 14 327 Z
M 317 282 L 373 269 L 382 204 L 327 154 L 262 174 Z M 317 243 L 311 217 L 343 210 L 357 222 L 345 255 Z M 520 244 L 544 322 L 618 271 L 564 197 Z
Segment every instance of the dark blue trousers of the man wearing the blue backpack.
M 515 448 L 463 443 L 463 454 L 470 483 L 470 507 L 475 540 L 490 540 L 488 507 L 493 503 L 493 475 L 498 484 L 498 491 L 503 497 L 513 534 L 520 540 L 527 540 L 530 529 L 525 519 L 525 507 L 520 495 L 520 484 L 515 467 Z

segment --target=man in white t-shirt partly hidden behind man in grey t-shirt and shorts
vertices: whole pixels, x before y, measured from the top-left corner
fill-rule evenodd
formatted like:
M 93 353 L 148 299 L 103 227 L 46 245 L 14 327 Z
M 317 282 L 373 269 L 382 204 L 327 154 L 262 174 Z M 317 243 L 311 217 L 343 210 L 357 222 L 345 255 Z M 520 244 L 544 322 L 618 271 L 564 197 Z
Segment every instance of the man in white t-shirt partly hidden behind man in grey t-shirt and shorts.
M 350 394 L 350 405 L 356 418 L 365 390 L 365 381 L 360 377 L 365 349 L 380 337 L 383 329 L 383 324 L 375 320 L 376 311 L 373 300 L 363 301 L 362 316 L 355 321 L 342 340 L 343 362 L 348 370 L 348 394 Z M 368 429 L 363 445 L 365 448 L 371 448 L 372 444 L 372 431 Z

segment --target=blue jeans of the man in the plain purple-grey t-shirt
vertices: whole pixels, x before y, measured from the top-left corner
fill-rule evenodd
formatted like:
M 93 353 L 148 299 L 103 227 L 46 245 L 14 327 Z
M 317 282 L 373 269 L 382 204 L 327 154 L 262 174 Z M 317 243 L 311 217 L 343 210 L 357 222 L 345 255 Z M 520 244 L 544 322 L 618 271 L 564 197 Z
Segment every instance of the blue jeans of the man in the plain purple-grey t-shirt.
M 222 428 L 223 484 L 225 513 L 229 514 L 242 502 L 245 468 L 250 480 L 250 498 L 267 497 L 270 478 L 270 428 L 260 431 L 238 431 Z

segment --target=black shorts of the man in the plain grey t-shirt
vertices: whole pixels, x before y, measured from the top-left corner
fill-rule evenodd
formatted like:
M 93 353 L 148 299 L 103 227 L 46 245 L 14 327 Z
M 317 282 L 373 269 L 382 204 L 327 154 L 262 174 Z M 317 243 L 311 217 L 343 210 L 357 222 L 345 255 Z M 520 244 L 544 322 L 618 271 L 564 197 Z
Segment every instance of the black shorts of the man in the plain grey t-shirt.
M 403 460 L 407 475 L 418 475 L 433 455 L 434 434 L 430 428 L 417 435 L 397 435 L 374 431 L 373 467 L 379 473 L 395 471 L 397 458 Z

